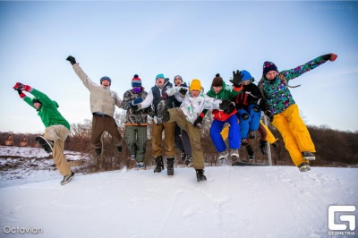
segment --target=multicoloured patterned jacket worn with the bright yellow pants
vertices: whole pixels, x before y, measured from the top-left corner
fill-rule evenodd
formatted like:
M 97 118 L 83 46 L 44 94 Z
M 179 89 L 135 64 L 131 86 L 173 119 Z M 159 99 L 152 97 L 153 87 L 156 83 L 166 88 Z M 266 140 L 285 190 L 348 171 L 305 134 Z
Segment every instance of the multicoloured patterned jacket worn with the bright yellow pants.
M 288 106 L 294 105 L 294 98 L 288 89 L 288 81 L 301 76 L 304 72 L 324 64 L 328 61 L 328 55 L 321 55 L 310 62 L 300 65 L 291 70 L 285 70 L 277 73 L 276 80 L 268 81 L 265 75 L 259 81 L 259 89 L 263 97 L 268 100 L 268 105 L 272 115 L 277 115 L 286 110 Z

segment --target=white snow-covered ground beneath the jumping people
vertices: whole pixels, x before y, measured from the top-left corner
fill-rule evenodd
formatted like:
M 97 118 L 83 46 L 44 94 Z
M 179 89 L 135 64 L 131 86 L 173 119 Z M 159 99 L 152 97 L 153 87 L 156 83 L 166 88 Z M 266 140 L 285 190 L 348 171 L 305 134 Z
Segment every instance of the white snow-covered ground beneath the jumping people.
M 176 167 L 174 176 L 166 169 L 154 174 L 152 168 L 123 168 L 76 174 L 66 185 L 53 172 L 38 172 L 37 182 L 22 176 L 12 186 L 5 182 L 10 177 L 2 178 L 1 237 L 31 230 L 36 237 L 358 235 L 347 229 L 350 234 L 331 236 L 328 229 L 329 206 L 358 206 L 357 168 L 300 173 L 294 166 L 215 166 L 205 169 L 203 183 L 190 167 Z

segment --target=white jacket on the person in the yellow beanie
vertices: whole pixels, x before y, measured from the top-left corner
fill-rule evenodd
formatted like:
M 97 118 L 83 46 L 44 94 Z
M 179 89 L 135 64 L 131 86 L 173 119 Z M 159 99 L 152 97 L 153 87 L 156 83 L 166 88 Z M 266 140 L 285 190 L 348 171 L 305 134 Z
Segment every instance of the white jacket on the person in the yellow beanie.
M 182 89 L 182 87 L 175 87 L 166 90 L 166 93 L 168 96 L 172 96 L 175 95 L 175 93 L 178 93 L 180 89 Z M 193 98 L 191 93 L 188 91 L 183 98 L 180 108 L 182 109 L 188 122 L 194 123 L 204 109 L 218 110 L 221 102 L 222 101 L 219 99 L 210 98 L 207 95 L 204 95 L 204 89 L 201 87 L 200 95 L 196 98 Z

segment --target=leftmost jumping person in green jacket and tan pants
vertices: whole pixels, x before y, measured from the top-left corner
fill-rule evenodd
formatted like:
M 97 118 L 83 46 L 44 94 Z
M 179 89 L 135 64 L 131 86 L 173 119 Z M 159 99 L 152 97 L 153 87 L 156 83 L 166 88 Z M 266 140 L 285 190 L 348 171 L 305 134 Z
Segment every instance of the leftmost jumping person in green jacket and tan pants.
M 61 184 L 69 183 L 74 173 L 64 157 L 64 140 L 67 139 L 70 133 L 70 124 L 57 110 L 58 104 L 48 98 L 46 94 L 31 88 L 29 85 L 23 85 L 21 82 L 17 82 L 13 86 L 13 89 L 18 91 L 20 98 L 37 110 L 42 123 L 45 124 L 46 130 L 43 136 L 36 137 L 36 141 L 47 153 L 52 152 L 55 166 L 60 174 L 64 176 Z M 23 91 L 30 92 L 36 98 L 27 97 Z

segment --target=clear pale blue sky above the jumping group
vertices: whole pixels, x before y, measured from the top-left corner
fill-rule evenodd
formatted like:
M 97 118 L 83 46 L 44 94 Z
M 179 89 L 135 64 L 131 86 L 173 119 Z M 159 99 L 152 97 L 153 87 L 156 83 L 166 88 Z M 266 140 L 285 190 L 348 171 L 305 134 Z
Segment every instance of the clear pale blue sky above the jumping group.
M 0 132 L 44 131 L 17 81 L 57 101 L 69 123 L 91 119 L 68 55 L 92 81 L 109 76 L 123 98 L 135 73 L 147 91 L 158 73 L 208 90 L 217 72 L 259 81 L 264 61 L 287 70 L 331 52 L 337 61 L 291 81 L 302 85 L 291 92 L 307 124 L 355 132 L 357 22 L 358 2 L 0 2 Z

